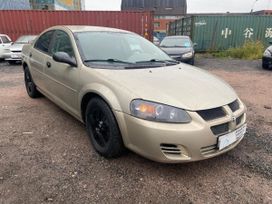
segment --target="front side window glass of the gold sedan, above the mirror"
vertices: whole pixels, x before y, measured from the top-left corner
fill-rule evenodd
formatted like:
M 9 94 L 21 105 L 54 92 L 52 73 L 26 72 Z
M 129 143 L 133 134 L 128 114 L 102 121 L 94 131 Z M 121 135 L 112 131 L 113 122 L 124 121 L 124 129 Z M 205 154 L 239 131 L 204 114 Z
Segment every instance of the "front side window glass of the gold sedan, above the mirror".
M 57 30 L 55 32 L 55 40 L 52 45 L 52 53 L 66 52 L 70 57 L 75 57 L 70 37 L 64 31 Z

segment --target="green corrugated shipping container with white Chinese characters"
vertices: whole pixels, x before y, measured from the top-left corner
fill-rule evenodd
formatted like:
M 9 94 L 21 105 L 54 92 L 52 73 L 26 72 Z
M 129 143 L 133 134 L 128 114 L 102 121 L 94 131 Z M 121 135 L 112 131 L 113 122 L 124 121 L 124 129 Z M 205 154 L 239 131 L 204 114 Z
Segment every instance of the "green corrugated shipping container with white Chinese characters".
M 171 29 L 175 31 L 171 31 Z M 272 40 L 272 16 L 192 16 L 170 24 L 170 35 L 188 35 L 197 51 L 239 47 L 246 40 Z

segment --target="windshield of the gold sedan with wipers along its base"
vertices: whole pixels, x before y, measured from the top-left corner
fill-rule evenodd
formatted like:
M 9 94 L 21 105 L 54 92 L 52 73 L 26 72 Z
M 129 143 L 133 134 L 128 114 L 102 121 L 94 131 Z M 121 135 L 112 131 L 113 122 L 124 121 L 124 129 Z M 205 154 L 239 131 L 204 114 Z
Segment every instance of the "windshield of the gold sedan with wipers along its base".
M 86 63 L 123 63 L 173 61 L 148 40 L 132 33 L 79 32 L 77 43 Z

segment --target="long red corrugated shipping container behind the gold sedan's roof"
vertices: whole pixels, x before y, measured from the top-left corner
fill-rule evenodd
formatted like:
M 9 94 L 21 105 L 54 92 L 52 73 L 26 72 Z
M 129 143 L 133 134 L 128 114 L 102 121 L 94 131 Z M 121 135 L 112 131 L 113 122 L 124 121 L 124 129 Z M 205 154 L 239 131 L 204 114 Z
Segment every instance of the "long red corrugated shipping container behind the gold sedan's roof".
M 153 21 L 152 12 L 0 11 L 0 33 L 15 40 L 55 25 L 93 25 L 129 30 L 152 40 Z

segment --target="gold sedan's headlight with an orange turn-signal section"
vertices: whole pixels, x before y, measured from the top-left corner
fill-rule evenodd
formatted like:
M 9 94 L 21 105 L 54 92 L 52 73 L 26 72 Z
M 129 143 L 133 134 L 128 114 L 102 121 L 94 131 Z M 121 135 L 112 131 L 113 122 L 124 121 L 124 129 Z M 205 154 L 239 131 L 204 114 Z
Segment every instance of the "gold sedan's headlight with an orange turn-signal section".
M 156 122 L 189 123 L 192 120 L 182 109 L 140 99 L 131 102 L 130 111 L 137 118 Z

